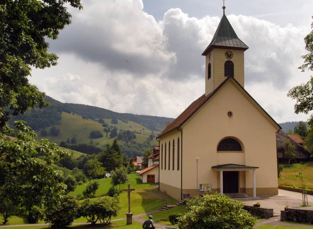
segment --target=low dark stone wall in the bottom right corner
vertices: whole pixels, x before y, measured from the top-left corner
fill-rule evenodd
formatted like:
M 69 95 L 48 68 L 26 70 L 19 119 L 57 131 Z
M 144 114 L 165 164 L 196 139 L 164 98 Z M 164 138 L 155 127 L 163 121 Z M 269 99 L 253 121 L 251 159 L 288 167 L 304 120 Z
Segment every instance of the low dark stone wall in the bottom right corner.
M 280 221 L 313 224 L 313 210 L 289 208 L 288 211 L 280 211 Z

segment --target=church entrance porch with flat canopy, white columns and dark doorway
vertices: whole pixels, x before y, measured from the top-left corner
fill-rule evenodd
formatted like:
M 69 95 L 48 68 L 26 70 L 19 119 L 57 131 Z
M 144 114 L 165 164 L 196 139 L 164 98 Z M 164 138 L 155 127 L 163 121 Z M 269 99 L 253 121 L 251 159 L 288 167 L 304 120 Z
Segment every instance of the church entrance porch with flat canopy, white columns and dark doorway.
M 256 197 L 255 170 L 259 167 L 239 164 L 222 164 L 212 166 L 215 171 L 220 171 L 220 192 L 221 194 L 239 192 L 239 171 L 251 171 L 253 173 L 253 197 Z

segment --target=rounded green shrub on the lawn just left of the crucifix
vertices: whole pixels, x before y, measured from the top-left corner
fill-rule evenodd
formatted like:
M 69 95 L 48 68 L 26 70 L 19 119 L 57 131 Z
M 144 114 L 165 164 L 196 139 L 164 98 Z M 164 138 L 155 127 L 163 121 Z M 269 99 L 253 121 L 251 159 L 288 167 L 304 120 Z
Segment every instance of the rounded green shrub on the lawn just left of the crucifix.
M 101 224 L 108 225 L 112 216 L 117 216 L 121 206 L 118 205 L 117 198 L 101 197 L 96 199 L 85 200 L 81 207 L 81 216 L 87 219 L 88 223 L 95 225 L 99 220 Z

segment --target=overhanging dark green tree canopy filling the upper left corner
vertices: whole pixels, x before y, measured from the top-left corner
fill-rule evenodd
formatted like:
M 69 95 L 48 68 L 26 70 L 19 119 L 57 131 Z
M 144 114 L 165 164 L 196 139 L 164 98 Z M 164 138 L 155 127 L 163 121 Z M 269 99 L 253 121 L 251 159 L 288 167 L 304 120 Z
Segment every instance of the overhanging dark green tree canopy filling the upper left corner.
M 57 39 L 71 23 L 67 3 L 82 9 L 80 0 L 0 0 L 0 128 L 12 115 L 46 106 L 45 93 L 28 81 L 31 68 L 57 64 L 45 38 Z

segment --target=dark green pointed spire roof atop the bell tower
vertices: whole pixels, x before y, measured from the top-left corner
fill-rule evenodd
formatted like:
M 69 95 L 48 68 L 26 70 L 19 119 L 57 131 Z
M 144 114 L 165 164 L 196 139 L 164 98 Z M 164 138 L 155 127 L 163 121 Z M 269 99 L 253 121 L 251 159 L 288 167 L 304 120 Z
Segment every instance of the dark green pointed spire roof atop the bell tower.
M 206 56 L 214 47 L 217 48 L 233 48 L 246 50 L 249 47 L 243 43 L 235 33 L 235 30 L 229 23 L 226 15 L 224 14 L 214 37 L 209 46 L 204 50 L 202 56 Z

